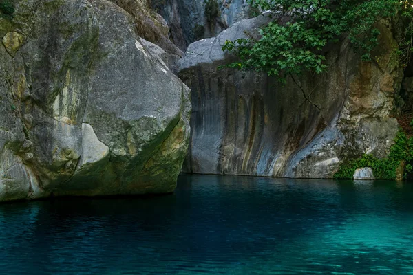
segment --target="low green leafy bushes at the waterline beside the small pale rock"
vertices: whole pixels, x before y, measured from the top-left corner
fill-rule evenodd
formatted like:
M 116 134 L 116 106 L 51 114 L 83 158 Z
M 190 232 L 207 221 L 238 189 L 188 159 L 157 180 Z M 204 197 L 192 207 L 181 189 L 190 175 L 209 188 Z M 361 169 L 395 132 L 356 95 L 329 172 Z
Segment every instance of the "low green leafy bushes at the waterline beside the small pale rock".
M 357 168 L 370 167 L 377 179 L 396 179 L 396 170 L 401 162 L 405 162 L 405 173 L 412 173 L 413 137 L 407 138 L 399 131 L 394 144 L 390 148 L 388 157 L 379 159 L 373 155 L 363 155 L 359 159 L 352 159 L 339 168 L 334 175 L 335 179 L 352 179 Z

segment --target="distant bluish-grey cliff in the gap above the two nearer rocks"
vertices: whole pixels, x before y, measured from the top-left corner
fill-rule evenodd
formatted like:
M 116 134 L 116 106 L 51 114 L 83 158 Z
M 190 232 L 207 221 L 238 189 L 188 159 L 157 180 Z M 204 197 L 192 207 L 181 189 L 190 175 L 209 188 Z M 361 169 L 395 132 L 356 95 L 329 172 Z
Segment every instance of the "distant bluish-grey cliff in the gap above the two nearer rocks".
M 181 50 L 187 49 L 193 41 L 216 36 L 229 25 L 250 18 L 253 13 L 246 0 L 218 0 L 220 14 L 211 30 L 204 14 L 204 0 L 152 0 L 152 6 L 167 21 L 171 41 Z M 203 37 L 195 34 L 196 25 L 204 27 Z

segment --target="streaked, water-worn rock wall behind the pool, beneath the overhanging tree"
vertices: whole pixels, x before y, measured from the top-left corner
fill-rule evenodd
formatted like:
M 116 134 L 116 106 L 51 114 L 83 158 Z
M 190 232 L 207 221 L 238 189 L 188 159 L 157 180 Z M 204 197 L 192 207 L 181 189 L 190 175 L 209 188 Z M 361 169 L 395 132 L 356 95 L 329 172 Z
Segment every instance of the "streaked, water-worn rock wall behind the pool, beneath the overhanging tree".
M 265 16 L 235 23 L 189 45 L 179 76 L 191 88 L 188 173 L 330 178 L 351 157 L 389 153 L 398 124 L 390 118 L 399 87 L 395 41 L 382 28 L 378 65 L 361 62 L 348 40 L 327 54 L 328 72 L 291 76 L 285 86 L 255 72 L 217 70 L 233 61 L 226 40 L 256 34 Z

